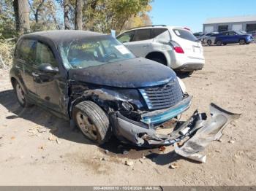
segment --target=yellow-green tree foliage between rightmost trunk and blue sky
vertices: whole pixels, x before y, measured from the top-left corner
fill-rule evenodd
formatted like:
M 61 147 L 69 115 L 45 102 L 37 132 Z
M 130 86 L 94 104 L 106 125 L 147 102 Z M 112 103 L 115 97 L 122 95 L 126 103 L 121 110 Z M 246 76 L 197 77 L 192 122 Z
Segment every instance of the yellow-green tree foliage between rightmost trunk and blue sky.
M 151 0 L 89 0 L 83 12 L 85 28 L 109 33 L 110 29 L 120 32 L 130 17 L 148 11 Z

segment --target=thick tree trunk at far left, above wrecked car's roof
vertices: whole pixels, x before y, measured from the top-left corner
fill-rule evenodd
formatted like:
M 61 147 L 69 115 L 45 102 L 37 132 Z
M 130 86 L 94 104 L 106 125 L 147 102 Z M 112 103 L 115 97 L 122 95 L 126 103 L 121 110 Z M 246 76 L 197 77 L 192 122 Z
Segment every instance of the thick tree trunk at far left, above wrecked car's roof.
M 29 2 L 27 0 L 14 0 L 13 8 L 15 10 L 16 31 L 19 35 L 29 33 Z

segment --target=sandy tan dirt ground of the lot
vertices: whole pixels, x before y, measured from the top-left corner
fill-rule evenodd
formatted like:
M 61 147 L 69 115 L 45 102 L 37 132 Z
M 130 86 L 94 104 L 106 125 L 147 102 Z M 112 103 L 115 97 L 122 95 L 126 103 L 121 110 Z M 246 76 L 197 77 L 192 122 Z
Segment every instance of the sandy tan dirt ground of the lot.
M 0 71 L 0 184 L 256 185 L 256 44 L 204 52 L 203 70 L 183 78 L 193 103 L 182 119 L 195 109 L 208 112 L 211 102 L 242 115 L 227 125 L 221 141 L 207 147 L 203 164 L 178 157 L 171 146 L 160 152 L 121 147 L 113 139 L 97 147 L 69 122 L 37 106 L 22 109 L 8 71 Z M 178 168 L 170 169 L 171 163 Z

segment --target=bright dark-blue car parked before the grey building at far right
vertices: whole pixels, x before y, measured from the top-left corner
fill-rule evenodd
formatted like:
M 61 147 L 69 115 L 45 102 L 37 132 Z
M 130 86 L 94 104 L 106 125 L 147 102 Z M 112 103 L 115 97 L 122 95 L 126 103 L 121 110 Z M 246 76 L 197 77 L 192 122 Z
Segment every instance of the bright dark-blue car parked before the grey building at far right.
M 221 46 L 222 44 L 249 44 L 253 41 L 252 34 L 246 34 L 242 31 L 225 31 L 216 34 L 215 44 Z

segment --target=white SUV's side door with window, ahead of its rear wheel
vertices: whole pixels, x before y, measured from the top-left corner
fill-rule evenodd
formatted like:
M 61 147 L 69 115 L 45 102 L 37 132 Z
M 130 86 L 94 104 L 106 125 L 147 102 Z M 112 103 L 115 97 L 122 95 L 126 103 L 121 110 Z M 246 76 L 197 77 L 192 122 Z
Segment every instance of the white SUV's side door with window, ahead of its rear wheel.
M 138 29 L 129 44 L 125 44 L 136 56 L 145 58 L 151 52 L 151 28 Z

